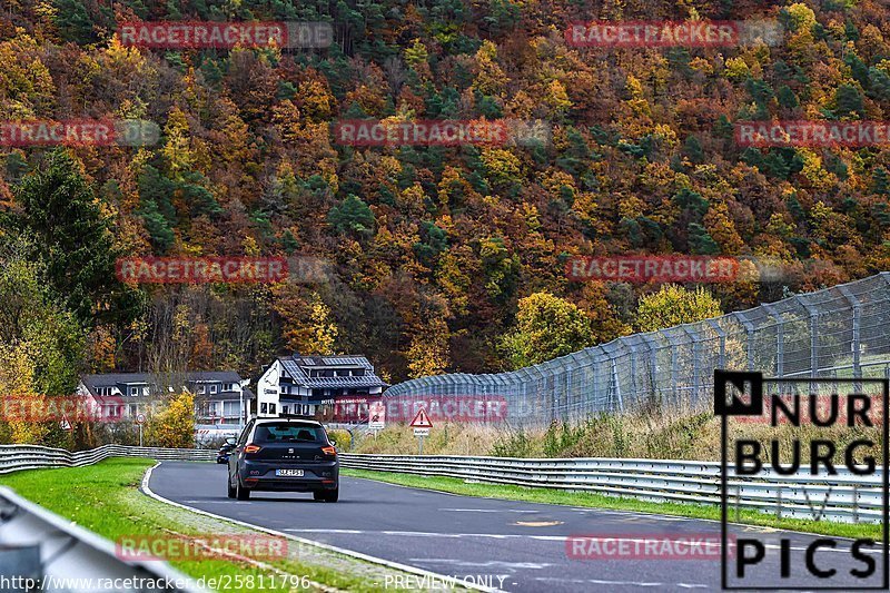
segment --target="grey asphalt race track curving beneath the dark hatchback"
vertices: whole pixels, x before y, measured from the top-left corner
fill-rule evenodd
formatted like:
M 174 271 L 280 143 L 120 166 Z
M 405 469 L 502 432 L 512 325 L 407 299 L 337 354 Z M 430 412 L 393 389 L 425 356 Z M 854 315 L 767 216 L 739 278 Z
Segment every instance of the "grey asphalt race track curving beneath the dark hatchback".
M 160 496 L 194 508 L 458 580 L 484 575 L 505 591 L 720 590 L 719 560 L 576 560 L 566 553 L 570 535 L 631 541 L 656 534 L 719 536 L 720 524 L 714 522 L 457 496 L 348 477 L 340 480 L 336 504 L 290 493 L 257 493 L 248 502 L 237 502 L 226 497 L 226 466 L 207 463 L 164 462 L 149 485 Z M 817 538 L 759 527 L 734 530 L 740 537 L 745 533 L 769 537 L 767 560 L 751 573 L 761 586 L 779 581 L 780 537 L 791 538 L 792 579 L 803 574 L 803 550 Z M 843 575 L 862 567 L 844 544 L 849 547 L 842 541 L 837 551 L 817 552 L 820 567 L 835 567 Z M 880 582 L 880 555 L 870 555 Z

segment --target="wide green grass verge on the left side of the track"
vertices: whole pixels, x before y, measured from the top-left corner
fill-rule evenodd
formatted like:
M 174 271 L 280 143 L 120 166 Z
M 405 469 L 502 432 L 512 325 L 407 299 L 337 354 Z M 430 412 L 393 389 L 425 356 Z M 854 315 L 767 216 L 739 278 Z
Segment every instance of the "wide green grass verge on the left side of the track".
M 0 476 L 0 484 L 78 525 L 117 541 L 123 535 L 266 534 L 177 508 L 139 492 L 151 459 L 113 458 L 72 468 L 32 470 Z M 174 560 L 169 563 L 206 589 L 218 591 L 358 591 L 383 587 L 386 574 L 405 574 L 343 554 L 288 541 L 287 557 Z M 97 575 L 99 577 L 99 575 Z M 208 586 L 216 579 L 216 586 Z

